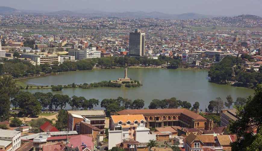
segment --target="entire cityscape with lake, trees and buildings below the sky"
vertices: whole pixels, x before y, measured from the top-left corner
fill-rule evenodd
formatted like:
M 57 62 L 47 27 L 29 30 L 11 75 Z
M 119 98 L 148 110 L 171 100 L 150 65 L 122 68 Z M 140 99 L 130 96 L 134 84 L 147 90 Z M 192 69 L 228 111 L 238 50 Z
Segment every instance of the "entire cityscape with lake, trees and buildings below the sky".
M 0 151 L 262 150 L 261 17 L 0 8 Z

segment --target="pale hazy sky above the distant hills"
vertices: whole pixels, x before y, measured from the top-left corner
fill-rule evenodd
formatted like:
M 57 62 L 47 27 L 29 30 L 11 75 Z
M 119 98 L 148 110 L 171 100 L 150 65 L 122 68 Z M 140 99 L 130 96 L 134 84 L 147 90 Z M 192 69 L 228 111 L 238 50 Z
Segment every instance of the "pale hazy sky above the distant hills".
M 262 0 L 0 0 L 2 6 L 26 10 L 93 9 L 110 12 L 194 12 L 210 15 L 254 14 L 262 16 Z

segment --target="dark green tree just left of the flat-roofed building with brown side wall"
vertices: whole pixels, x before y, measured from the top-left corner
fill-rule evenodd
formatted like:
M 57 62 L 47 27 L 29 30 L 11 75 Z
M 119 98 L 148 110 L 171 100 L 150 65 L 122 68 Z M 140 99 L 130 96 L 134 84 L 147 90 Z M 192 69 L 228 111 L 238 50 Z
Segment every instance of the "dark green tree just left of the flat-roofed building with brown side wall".
M 55 127 L 58 128 L 58 130 L 63 130 L 67 128 L 67 111 L 59 110 L 58 115 L 56 117 L 57 120 L 55 122 Z

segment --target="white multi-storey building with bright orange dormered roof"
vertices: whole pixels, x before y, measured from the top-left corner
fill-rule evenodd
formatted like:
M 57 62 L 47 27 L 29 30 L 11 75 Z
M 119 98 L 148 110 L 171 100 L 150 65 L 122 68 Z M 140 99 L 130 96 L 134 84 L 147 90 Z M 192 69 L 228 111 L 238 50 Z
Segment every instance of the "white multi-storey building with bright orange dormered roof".
M 132 138 L 140 143 L 156 140 L 156 134 L 151 134 L 145 127 L 145 118 L 142 114 L 111 115 L 108 130 L 108 149 L 122 143 L 126 138 Z

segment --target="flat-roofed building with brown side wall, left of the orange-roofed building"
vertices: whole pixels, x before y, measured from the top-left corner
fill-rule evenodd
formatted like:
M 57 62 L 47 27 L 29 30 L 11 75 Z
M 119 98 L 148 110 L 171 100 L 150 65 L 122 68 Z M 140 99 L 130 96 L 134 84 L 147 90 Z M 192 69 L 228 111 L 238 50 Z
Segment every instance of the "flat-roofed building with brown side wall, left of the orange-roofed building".
M 67 111 L 68 129 L 80 131 L 80 122 L 90 121 L 90 124 L 104 131 L 105 113 L 104 110 L 81 110 Z

